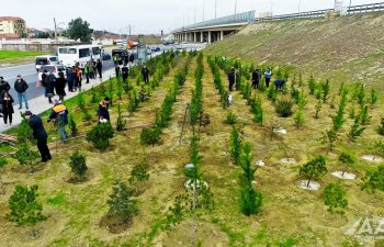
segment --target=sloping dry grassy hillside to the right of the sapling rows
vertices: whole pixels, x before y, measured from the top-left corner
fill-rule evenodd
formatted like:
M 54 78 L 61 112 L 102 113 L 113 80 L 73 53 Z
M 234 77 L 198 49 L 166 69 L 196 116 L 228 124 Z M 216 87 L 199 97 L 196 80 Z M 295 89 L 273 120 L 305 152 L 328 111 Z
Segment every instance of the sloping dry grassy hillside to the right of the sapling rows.
M 384 13 L 255 23 L 206 52 L 346 82 L 384 79 Z M 379 86 L 383 92 L 383 83 Z

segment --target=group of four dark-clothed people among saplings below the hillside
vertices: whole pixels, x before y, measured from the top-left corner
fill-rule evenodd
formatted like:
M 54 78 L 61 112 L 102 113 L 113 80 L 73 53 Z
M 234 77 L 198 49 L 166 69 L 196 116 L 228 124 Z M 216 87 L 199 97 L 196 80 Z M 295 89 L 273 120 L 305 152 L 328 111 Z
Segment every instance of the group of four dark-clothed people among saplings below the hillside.
M 263 72 L 264 79 L 266 79 L 266 87 L 269 88 L 270 83 L 271 83 L 271 79 L 272 79 L 272 69 L 268 68 L 264 72 Z M 255 69 L 252 71 L 252 88 L 257 89 L 260 87 L 261 83 L 261 77 L 262 74 L 260 71 L 260 69 Z M 228 71 L 228 82 L 229 82 L 229 91 L 233 91 L 234 85 L 236 83 L 236 90 L 239 90 L 239 78 L 240 78 L 240 71 L 239 70 L 235 70 L 235 68 L 233 67 L 229 71 Z M 274 86 L 278 89 L 282 89 L 282 87 L 284 86 L 285 80 L 282 78 L 279 78 L 276 80 L 274 80 Z

